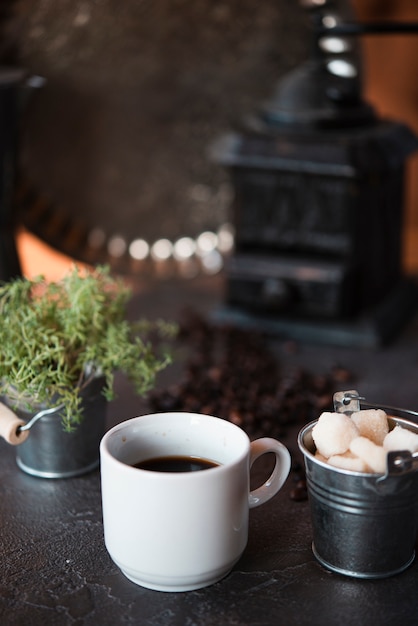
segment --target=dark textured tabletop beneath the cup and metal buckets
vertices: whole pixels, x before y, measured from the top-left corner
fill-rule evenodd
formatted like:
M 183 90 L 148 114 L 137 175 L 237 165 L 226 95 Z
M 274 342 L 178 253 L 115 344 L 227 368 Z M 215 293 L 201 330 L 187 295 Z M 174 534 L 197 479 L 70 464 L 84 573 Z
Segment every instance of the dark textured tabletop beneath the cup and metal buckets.
M 216 307 L 217 280 L 179 288 L 164 284 L 138 294 L 146 315 L 173 318 L 181 306 Z M 305 345 L 290 353 L 272 340 L 278 358 L 318 373 L 336 362 L 356 372 L 370 402 L 418 407 L 418 323 L 389 347 L 374 351 Z M 161 385 L 180 375 L 181 363 Z M 129 385 L 117 380 L 108 426 L 141 414 Z M 294 425 L 283 436 L 299 459 Z M 289 478 L 266 505 L 250 512 L 247 549 L 221 582 L 194 592 L 160 593 L 128 581 L 103 542 L 99 470 L 80 478 L 47 480 L 21 472 L 15 451 L 0 441 L 0 623 L 64 625 L 298 625 L 416 624 L 418 563 L 393 578 L 362 581 L 323 569 L 311 552 L 308 503 L 290 498 Z M 255 468 L 261 478 L 262 466 Z M 257 479 L 256 476 L 256 479 Z

